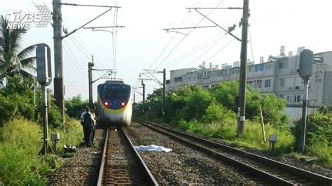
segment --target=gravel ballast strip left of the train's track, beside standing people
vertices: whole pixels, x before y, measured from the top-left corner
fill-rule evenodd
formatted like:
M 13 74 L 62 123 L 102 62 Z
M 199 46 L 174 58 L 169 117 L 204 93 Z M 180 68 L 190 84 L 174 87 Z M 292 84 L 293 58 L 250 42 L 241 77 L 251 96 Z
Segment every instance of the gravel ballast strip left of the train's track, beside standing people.
M 95 131 L 99 146 L 78 148 L 74 157 L 62 159 L 63 166 L 48 175 L 49 185 L 96 185 L 104 144 L 104 130 Z

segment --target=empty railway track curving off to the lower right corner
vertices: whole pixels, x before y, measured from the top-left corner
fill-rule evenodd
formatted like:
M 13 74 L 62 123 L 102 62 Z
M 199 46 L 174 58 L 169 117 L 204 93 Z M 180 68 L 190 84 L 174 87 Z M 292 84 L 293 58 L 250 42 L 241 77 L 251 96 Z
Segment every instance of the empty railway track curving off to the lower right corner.
M 238 150 L 228 145 L 170 129 L 161 124 L 155 124 L 137 118 L 133 120 L 161 134 L 166 134 L 177 141 L 186 143 L 186 145 L 205 152 L 216 159 L 220 159 L 241 170 L 245 170 L 253 176 L 265 180 L 268 183 L 272 183 L 273 185 L 332 185 L 331 178 L 321 176 L 317 173 L 298 169 L 297 167 L 283 164 L 273 159 L 268 159 L 250 152 Z

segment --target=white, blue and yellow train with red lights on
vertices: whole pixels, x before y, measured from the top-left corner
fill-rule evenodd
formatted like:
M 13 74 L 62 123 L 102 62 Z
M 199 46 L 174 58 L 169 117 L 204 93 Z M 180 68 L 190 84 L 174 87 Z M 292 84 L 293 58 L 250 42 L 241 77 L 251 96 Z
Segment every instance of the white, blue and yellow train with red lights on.
M 97 114 L 104 125 L 129 125 L 132 120 L 132 88 L 122 80 L 106 80 L 97 86 Z

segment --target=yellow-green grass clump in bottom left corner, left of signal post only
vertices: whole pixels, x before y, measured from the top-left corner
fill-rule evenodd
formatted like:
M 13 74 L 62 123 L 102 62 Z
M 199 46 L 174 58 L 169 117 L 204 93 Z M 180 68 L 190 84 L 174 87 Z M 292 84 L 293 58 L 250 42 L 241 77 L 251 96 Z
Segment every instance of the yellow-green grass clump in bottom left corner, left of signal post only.
M 4 185 L 45 185 L 41 179 L 39 143 L 42 131 L 37 124 L 27 120 L 12 120 L 1 130 L 0 183 Z M 43 169 L 45 170 L 45 169 Z

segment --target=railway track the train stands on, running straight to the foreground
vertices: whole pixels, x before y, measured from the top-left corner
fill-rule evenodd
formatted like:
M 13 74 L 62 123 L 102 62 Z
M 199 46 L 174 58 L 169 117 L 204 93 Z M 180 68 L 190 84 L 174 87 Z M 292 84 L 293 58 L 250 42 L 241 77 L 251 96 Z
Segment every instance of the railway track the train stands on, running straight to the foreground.
M 158 185 L 121 127 L 107 129 L 97 185 Z

